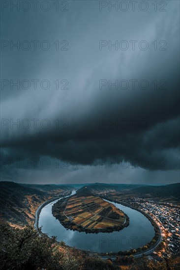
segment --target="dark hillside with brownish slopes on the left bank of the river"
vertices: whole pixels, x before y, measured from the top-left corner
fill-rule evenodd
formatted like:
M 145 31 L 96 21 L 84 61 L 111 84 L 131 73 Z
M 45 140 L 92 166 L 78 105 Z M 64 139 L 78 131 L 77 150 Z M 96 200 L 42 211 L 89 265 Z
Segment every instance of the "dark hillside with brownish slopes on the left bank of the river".
M 0 182 L 0 217 L 12 224 L 33 224 L 35 211 L 38 206 L 49 198 L 57 196 L 66 190 L 53 185 L 17 184 L 14 182 Z M 69 188 L 70 189 L 70 188 Z

